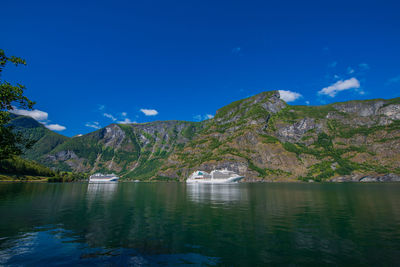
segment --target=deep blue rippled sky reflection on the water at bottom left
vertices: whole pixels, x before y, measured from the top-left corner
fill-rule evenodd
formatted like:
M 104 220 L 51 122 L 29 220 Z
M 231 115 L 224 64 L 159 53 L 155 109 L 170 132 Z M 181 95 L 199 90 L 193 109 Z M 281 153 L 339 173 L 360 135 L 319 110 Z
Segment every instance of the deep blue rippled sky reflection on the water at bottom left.
M 7 241 L 0 250 L 0 265 L 214 266 L 218 261 L 198 253 L 145 255 L 134 249 L 92 248 L 69 237 L 62 228 L 26 233 Z

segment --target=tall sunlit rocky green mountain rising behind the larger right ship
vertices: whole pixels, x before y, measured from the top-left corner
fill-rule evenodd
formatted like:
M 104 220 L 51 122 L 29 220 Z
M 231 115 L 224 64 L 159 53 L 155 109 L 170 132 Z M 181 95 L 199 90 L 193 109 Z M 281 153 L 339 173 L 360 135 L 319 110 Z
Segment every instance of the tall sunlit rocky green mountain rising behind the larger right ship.
M 196 169 L 226 167 L 248 181 L 395 177 L 400 173 L 399 102 L 289 106 L 278 92 L 265 92 L 220 109 L 159 173 L 184 179 Z

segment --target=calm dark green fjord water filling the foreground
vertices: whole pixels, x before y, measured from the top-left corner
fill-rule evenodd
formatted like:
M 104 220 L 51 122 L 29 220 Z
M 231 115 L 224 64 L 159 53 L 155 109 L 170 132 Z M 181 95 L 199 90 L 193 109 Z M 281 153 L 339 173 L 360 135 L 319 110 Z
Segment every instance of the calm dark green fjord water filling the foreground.
M 0 265 L 399 265 L 400 184 L 0 184 Z

